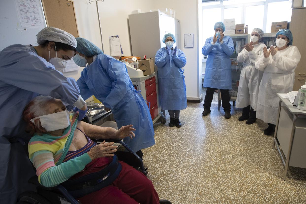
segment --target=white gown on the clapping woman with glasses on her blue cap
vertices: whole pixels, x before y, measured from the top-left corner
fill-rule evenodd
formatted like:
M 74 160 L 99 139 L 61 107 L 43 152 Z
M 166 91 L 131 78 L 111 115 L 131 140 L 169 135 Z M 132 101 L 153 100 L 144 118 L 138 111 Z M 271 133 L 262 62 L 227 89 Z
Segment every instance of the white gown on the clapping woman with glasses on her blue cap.
M 268 49 L 268 51 L 270 48 Z M 264 70 L 259 86 L 256 117 L 265 123 L 276 124 L 279 98 L 276 93 L 288 93 L 293 89 L 294 70 L 301 58 L 296 46 L 289 45 L 277 51 L 272 57 L 263 54 L 256 61 L 255 67 Z

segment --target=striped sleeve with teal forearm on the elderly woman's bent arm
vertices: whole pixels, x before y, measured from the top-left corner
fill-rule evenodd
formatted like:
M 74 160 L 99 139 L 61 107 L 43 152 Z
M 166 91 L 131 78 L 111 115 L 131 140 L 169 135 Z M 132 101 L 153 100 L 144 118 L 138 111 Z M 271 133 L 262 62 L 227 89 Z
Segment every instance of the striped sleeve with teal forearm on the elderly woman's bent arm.
M 74 174 L 80 172 L 91 162 L 91 158 L 85 153 L 56 166 L 54 164 L 53 153 L 41 150 L 35 152 L 32 162 L 36 168 L 39 183 L 46 187 L 52 187 L 61 184 Z

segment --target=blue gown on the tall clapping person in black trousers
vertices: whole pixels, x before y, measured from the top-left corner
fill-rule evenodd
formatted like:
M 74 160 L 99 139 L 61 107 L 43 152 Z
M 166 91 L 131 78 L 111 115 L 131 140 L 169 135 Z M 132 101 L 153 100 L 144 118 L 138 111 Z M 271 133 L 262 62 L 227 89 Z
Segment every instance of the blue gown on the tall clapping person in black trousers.
M 202 54 L 208 55 L 203 87 L 232 89 L 230 56 L 234 52 L 233 40 L 230 36 L 224 36 L 222 44 L 219 40 L 215 45 L 211 42 L 213 37 L 208 38 L 202 48 Z

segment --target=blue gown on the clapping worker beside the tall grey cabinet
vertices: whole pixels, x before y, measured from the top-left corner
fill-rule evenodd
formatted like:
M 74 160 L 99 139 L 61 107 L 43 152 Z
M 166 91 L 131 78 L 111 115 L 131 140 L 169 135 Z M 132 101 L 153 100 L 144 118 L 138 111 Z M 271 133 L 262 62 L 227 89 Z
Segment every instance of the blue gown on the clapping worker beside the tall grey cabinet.
M 184 70 L 186 56 L 182 50 L 177 49 L 168 54 L 165 47 L 157 50 L 155 64 L 158 67 L 158 82 L 160 106 L 162 110 L 183 110 L 187 108 L 186 85 Z

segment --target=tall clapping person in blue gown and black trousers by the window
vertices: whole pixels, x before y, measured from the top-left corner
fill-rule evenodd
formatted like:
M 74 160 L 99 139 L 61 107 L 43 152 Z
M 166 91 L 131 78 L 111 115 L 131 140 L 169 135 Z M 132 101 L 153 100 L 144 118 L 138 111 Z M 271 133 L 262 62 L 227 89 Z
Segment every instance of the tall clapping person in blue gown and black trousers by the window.
M 225 25 L 217 22 L 214 26 L 215 35 L 206 40 L 202 54 L 208 55 L 206 61 L 203 87 L 207 87 L 204 99 L 203 116 L 211 112 L 211 102 L 215 89 L 220 89 L 224 117 L 230 118 L 230 93 L 232 89 L 232 71 L 230 56 L 234 52 L 234 43 L 230 36 L 224 36 Z

